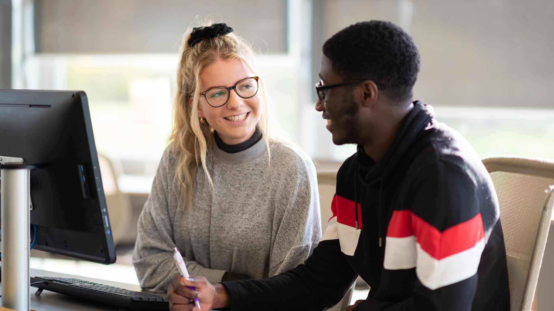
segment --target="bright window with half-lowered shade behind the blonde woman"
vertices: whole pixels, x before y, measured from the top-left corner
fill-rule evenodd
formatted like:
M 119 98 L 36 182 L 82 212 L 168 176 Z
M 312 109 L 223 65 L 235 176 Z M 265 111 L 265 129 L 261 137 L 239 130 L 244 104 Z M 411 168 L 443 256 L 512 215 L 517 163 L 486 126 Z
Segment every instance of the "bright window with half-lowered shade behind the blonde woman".
M 211 19 L 224 20 L 264 54 L 259 75 L 271 99 L 293 105 L 288 1 L 193 7 L 179 0 L 35 0 L 37 53 L 25 61 L 25 87 L 84 90 L 98 151 L 121 160 L 125 174 L 153 175 L 171 131 L 182 35 Z M 285 131 L 294 132 L 290 109 L 276 107 L 280 114 Z

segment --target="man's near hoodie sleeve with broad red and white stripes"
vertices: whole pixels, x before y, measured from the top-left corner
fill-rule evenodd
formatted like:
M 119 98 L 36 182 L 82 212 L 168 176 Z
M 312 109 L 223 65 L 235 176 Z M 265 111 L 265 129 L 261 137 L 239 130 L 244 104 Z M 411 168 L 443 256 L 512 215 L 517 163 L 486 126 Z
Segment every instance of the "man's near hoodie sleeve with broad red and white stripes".
M 417 279 L 383 282 L 383 290 L 355 310 L 469 311 L 485 247 L 476 182 L 464 169 L 438 162 L 410 184 L 407 209 L 394 210 L 389 222 L 383 273 L 415 269 Z M 391 286 L 411 286 L 413 295 L 398 301 L 381 294 Z

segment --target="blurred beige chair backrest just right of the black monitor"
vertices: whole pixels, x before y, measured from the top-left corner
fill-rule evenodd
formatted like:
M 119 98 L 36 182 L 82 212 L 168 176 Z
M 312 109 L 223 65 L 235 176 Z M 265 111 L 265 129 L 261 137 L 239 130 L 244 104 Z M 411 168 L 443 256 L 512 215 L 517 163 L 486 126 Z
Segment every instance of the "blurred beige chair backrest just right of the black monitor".
M 122 193 L 117 186 L 117 177 L 121 174 L 121 168 L 117 162 L 98 154 L 102 185 L 106 196 L 107 213 L 110 217 L 112 237 L 114 245 L 125 236 L 131 225 L 131 203 L 129 197 Z

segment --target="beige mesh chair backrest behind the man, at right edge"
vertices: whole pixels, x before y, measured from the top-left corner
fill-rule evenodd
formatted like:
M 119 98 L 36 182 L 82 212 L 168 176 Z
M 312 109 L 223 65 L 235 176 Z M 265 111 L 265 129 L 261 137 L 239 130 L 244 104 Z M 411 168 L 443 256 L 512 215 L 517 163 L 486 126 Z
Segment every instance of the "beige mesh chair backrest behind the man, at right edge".
M 529 311 L 554 207 L 554 163 L 497 157 L 484 159 L 483 164 L 500 205 L 511 310 Z

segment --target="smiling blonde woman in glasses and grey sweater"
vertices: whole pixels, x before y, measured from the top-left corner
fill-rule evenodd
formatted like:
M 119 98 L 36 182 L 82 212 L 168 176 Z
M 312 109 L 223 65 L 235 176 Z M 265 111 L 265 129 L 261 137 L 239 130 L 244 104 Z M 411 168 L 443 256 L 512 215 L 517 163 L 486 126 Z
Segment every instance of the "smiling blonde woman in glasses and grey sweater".
M 268 134 L 253 52 L 232 31 L 212 24 L 183 40 L 170 144 L 133 255 L 150 291 L 178 274 L 173 247 L 189 273 L 218 283 L 296 267 L 320 240 L 314 164 Z

